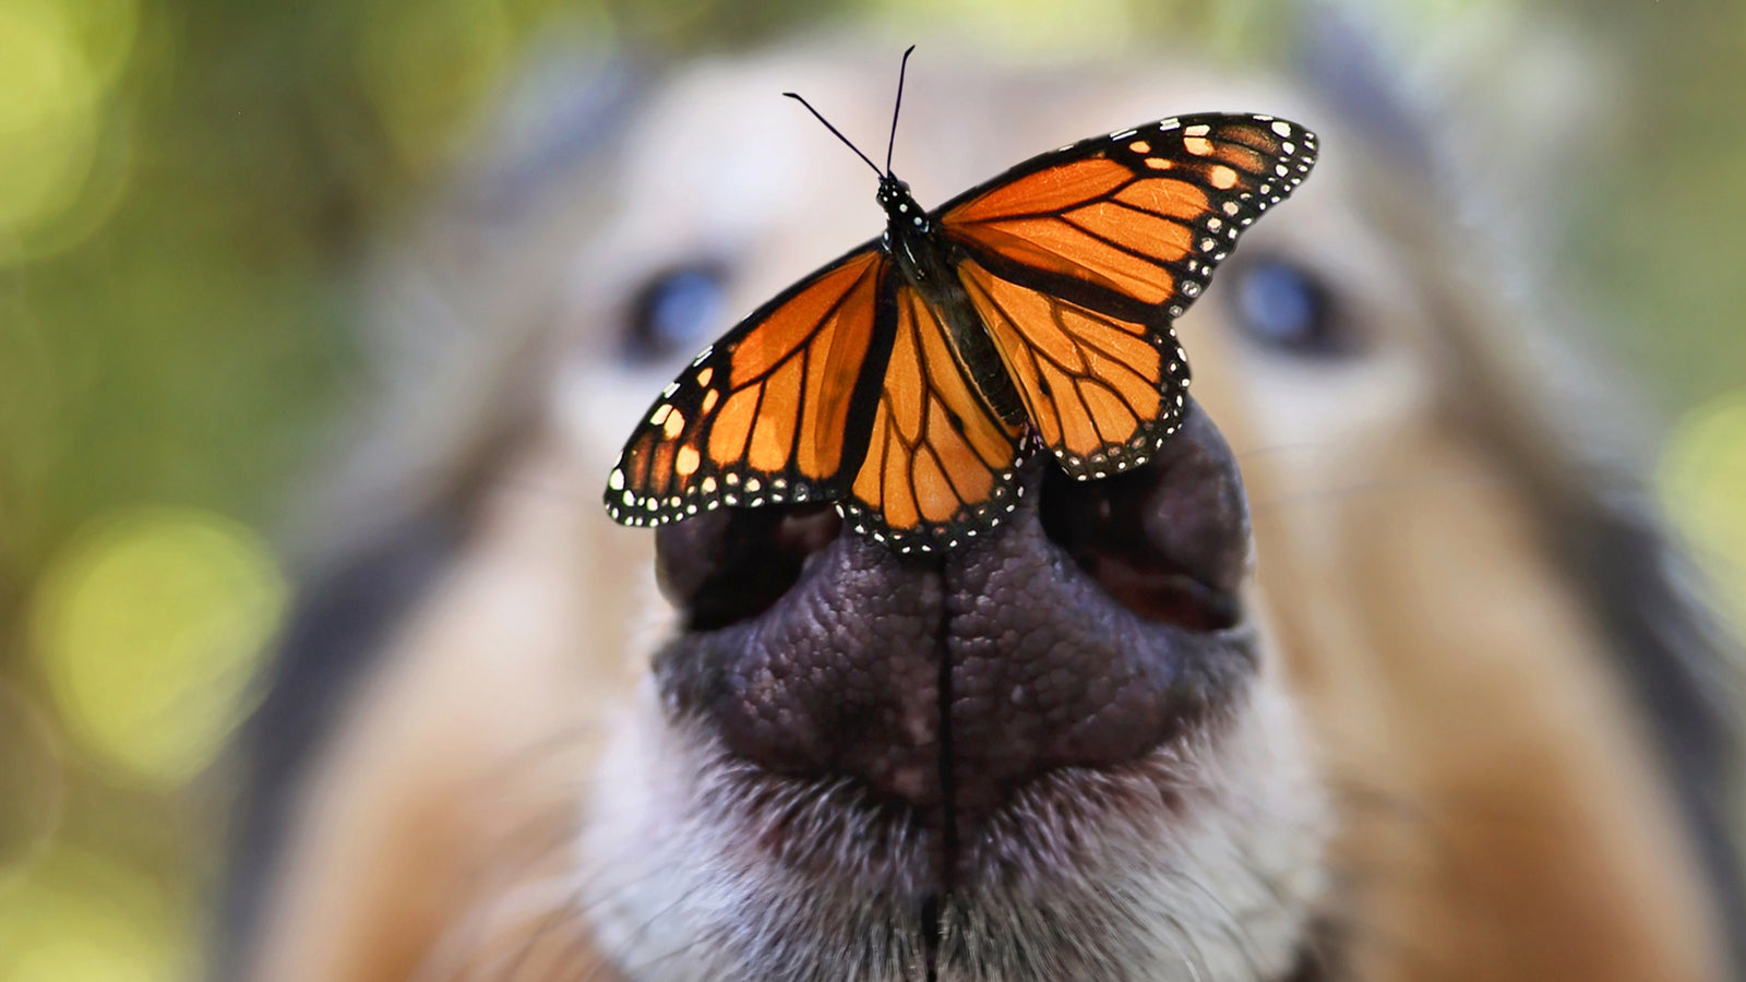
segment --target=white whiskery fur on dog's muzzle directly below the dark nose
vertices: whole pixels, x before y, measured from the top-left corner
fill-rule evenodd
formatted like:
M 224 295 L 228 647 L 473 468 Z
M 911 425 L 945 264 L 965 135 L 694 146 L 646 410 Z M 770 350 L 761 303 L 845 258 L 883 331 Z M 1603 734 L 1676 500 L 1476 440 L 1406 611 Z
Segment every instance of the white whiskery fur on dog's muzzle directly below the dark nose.
M 997 882 L 939 910 L 936 977 L 1255 982 L 1287 972 L 1325 889 L 1325 802 L 1271 671 L 1215 725 L 1121 769 L 1063 769 L 990 823 Z M 583 835 L 585 917 L 636 982 L 920 977 L 925 858 L 847 783 L 773 778 L 651 683 Z

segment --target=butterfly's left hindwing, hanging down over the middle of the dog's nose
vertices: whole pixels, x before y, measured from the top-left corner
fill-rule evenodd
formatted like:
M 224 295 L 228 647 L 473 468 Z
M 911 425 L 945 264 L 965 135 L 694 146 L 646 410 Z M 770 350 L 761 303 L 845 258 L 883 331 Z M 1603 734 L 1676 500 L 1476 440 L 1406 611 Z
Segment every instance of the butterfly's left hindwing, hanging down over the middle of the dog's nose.
M 899 552 L 952 547 L 1013 510 L 1018 428 L 964 377 L 915 290 L 899 287 L 896 308 L 873 433 L 842 508 L 856 531 Z

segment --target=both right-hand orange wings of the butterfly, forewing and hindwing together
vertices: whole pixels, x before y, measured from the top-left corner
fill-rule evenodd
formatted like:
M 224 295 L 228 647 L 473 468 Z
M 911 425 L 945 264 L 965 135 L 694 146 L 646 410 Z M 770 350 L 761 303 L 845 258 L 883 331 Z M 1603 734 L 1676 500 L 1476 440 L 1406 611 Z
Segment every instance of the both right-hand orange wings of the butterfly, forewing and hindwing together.
M 1313 133 L 1193 115 L 1063 147 L 938 211 L 1039 439 L 1074 477 L 1144 463 L 1175 430 L 1187 358 L 1170 322 L 1238 234 L 1315 164 Z

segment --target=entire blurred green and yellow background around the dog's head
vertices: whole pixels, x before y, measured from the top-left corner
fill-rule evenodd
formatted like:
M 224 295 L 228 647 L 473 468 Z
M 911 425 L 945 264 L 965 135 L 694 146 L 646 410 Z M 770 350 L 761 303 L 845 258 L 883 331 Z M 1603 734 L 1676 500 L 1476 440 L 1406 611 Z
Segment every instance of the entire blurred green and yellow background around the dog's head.
M 1388 23 L 1413 44 L 1519 7 L 1413 0 Z M 210 767 L 290 599 L 274 529 L 370 395 L 360 257 L 531 44 L 679 59 L 852 17 L 1245 58 L 1280 10 L 0 0 L 0 982 L 196 975 L 227 795 Z M 1664 414 L 1653 484 L 1746 626 L 1746 3 L 1531 12 L 1622 82 L 1552 273 Z

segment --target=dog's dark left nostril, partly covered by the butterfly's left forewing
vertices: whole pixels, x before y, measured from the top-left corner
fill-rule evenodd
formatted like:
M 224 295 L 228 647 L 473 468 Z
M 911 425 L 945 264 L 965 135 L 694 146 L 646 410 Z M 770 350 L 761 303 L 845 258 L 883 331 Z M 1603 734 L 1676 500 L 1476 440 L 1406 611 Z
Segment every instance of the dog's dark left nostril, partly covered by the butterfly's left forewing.
M 770 610 L 840 533 L 831 505 L 718 508 L 656 531 L 655 577 L 688 631 L 714 631 Z

